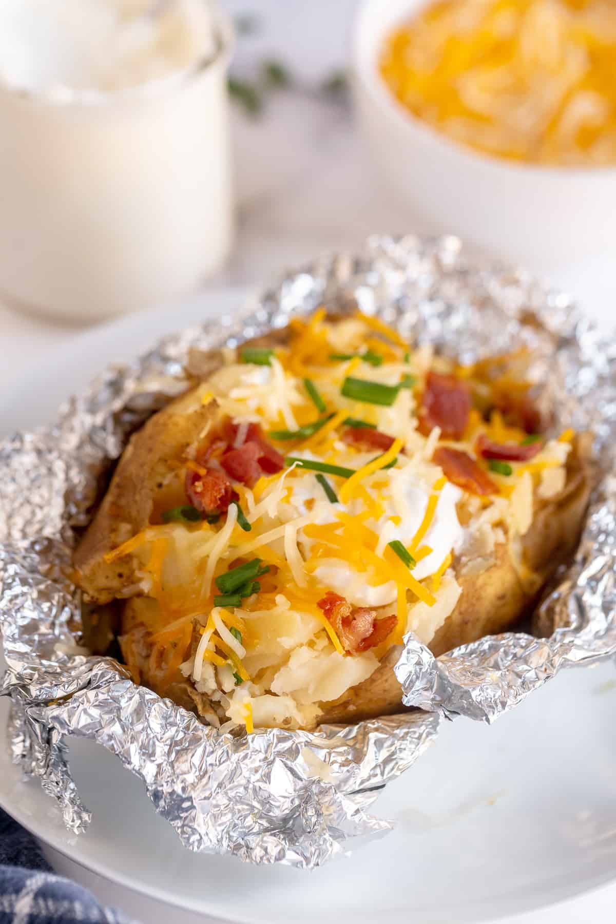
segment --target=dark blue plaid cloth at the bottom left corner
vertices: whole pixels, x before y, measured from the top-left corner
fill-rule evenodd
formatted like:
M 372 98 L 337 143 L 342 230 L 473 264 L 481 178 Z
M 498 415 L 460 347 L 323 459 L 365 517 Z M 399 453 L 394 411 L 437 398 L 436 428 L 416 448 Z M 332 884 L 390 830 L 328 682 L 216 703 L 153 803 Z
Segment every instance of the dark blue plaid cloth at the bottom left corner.
M 0 924 L 81 922 L 131 924 L 80 885 L 55 876 L 31 835 L 0 809 Z

